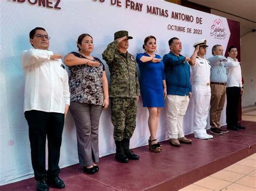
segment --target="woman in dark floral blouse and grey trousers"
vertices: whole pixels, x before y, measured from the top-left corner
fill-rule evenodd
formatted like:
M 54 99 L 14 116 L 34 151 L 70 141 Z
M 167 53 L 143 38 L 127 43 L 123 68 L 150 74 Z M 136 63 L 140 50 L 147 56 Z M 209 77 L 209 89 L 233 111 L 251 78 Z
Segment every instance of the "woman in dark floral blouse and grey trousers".
M 79 164 L 85 173 L 94 174 L 99 171 L 99 117 L 109 105 L 109 90 L 102 61 L 91 55 L 90 34 L 81 34 L 77 47 L 78 52 L 64 59 L 70 71 L 70 112 L 76 124 Z

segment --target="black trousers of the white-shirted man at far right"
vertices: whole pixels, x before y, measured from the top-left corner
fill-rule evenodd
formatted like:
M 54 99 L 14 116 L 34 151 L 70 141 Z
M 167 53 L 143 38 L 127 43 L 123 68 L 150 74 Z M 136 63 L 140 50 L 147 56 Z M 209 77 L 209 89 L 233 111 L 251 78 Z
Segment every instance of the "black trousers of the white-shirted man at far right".
M 228 126 L 238 124 L 238 104 L 241 94 L 240 87 L 226 88 L 227 108 L 226 108 L 226 122 Z

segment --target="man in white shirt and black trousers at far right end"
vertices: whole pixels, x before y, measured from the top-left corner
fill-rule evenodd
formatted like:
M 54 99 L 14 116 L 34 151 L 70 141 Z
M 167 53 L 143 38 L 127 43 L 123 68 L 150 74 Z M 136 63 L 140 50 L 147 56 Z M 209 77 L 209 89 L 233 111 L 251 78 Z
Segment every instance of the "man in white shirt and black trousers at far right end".
M 230 46 L 228 55 L 227 60 L 232 61 L 234 64 L 232 67 L 227 67 L 227 129 L 238 131 L 239 129 L 245 129 L 245 126 L 238 123 L 239 97 L 244 87 L 242 87 L 241 66 L 237 59 L 237 47 Z

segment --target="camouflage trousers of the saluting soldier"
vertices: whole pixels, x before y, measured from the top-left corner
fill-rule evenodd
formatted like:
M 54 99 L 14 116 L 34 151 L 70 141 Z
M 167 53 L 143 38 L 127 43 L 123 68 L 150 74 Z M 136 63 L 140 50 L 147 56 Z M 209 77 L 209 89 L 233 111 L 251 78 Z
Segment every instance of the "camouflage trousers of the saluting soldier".
M 111 120 L 114 125 L 114 140 L 130 139 L 136 128 L 136 98 L 111 98 Z

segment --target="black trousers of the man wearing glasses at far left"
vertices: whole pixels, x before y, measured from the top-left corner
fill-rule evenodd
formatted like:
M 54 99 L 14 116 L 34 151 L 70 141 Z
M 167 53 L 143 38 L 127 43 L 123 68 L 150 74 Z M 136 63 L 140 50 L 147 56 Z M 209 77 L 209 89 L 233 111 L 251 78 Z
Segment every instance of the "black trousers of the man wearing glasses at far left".
M 60 146 L 64 126 L 64 114 L 44 111 L 25 111 L 29 125 L 31 161 L 35 179 L 57 176 Z M 45 169 L 45 143 L 48 140 L 48 171 Z

